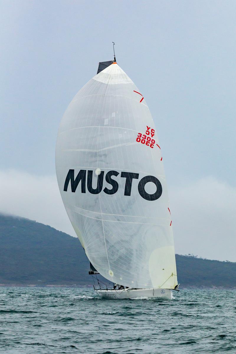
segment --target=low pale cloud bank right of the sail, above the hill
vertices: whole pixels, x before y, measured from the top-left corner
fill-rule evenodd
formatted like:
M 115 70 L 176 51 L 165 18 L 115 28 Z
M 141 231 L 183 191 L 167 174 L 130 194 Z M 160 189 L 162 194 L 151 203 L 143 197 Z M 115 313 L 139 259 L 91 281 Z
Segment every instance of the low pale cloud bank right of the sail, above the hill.
M 235 188 L 208 177 L 169 192 L 175 252 L 235 262 Z

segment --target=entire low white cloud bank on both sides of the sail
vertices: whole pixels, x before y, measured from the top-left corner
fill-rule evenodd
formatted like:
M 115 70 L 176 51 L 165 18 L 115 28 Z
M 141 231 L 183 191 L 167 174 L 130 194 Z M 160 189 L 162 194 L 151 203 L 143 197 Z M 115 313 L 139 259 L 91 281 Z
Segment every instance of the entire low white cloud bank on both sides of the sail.
M 169 188 L 176 253 L 235 261 L 235 194 L 235 188 L 211 177 Z M 1 212 L 75 236 L 56 176 L 2 171 Z

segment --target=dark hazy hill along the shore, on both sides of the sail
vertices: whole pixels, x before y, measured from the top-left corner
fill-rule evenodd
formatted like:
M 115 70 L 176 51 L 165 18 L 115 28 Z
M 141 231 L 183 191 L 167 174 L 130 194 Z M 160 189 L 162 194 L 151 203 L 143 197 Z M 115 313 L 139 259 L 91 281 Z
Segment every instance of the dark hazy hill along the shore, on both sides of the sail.
M 235 287 L 236 263 L 176 255 L 181 286 Z M 92 285 L 77 238 L 25 218 L 0 215 L 0 282 Z

